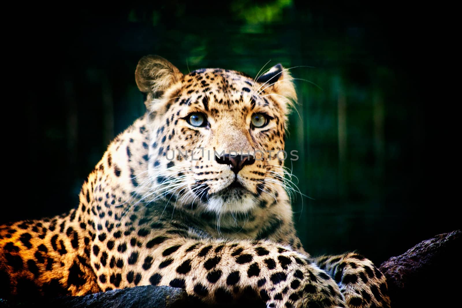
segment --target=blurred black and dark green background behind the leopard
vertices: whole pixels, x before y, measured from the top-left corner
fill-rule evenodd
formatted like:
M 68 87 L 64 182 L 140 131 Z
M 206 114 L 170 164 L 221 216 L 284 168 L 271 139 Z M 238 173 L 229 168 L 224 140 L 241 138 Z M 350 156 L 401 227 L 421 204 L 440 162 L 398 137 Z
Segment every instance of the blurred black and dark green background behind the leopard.
M 182 72 L 313 66 L 291 70 L 308 81 L 295 81 L 286 145 L 312 198 L 293 202 L 311 254 L 356 249 L 380 263 L 459 229 L 460 55 L 449 11 L 296 0 L 5 11 L 0 223 L 78 204 L 109 141 L 144 113 L 137 61 L 159 54 Z

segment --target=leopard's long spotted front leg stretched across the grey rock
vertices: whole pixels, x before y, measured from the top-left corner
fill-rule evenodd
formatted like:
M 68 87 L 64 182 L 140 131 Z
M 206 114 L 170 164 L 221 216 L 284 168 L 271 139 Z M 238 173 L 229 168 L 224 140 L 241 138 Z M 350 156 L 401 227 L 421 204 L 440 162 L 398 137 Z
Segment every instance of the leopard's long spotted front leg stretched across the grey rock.
M 137 260 L 121 264 L 121 273 L 114 274 L 122 278 L 119 288 L 134 286 L 139 277 L 137 285 L 184 288 L 207 303 L 255 294 L 267 307 L 346 307 L 332 278 L 302 254 L 274 242 L 154 240 L 130 253 L 138 253 Z M 134 270 L 135 264 L 143 271 Z M 105 280 L 101 288 L 109 283 Z

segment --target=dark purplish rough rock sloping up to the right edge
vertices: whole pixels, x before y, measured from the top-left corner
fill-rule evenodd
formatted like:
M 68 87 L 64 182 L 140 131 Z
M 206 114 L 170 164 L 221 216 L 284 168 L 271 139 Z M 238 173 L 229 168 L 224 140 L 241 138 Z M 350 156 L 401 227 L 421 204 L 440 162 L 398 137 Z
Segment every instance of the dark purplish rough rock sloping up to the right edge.
M 440 234 L 383 262 L 379 269 L 387 277 L 392 308 L 453 307 L 462 277 L 461 235 L 461 230 Z

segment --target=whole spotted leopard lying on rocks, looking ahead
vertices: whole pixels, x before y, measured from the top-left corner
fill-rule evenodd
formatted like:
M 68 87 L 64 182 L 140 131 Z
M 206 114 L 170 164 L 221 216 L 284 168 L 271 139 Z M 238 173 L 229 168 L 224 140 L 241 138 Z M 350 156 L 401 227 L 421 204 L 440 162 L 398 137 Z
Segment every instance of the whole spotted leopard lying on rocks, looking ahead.
M 2 298 L 166 285 L 204 304 L 390 307 L 370 260 L 311 256 L 297 236 L 281 158 L 297 102 L 288 69 L 183 74 L 148 55 L 135 81 L 146 112 L 109 144 L 78 205 L 0 226 Z

